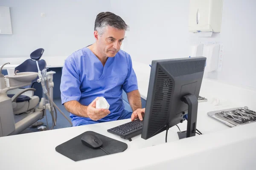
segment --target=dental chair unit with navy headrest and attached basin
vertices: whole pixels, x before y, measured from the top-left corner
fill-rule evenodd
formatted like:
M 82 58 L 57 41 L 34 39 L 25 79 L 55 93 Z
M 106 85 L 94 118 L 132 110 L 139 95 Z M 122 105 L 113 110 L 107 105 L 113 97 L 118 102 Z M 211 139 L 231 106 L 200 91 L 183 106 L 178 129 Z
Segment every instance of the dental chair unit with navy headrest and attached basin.
M 2 74 L 3 66 L 10 63 L 0 68 L 0 137 L 19 134 L 44 118 L 44 100 L 39 103 L 39 97 L 34 96 L 35 88 L 32 88 L 38 81 L 38 69 L 46 68 L 46 62 L 39 60 L 43 52 L 42 48 L 33 51 L 31 59 L 15 68 L 15 75 Z

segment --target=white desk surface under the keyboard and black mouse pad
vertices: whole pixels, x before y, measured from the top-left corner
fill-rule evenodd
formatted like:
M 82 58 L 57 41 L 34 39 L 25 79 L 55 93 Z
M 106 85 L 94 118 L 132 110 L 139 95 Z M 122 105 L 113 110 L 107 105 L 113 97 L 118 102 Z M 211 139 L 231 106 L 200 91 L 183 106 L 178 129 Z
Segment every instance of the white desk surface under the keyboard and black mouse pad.
M 162 166 L 163 169 L 169 169 L 170 165 L 167 166 L 167 164 L 170 163 L 172 163 L 171 166 L 176 167 L 176 169 L 183 169 L 184 167 L 191 167 L 191 165 L 188 166 L 186 163 L 183 165 L 180 164 L 182 162 L 191 162 L 189 155 L 194 158 L 201 157 L 202 164 L 200 166 L 204 165 L 204 167 L 207 167 L 206 164 L 209 166 L 211 161 L 207 161 L 204 156 L 208 156 L 209 159 L 212 159 L 210 154 L 213 154 L 215 156 L 215 161 L 217 161 L 218 158 L 221 157 L 219 153 L 224 156 L 230 156 L 230 153 L 233 154 L 237 150 L 240 151 L 241 148 L 235 146 L 235 144 L 241 144 L 241 142 L 245 142 L 245 144 L 255 143 L 256 133 L 254 133 L 254 129 L 256 128 L 256 124 L 228 128 L 206 116 L 205 111 L 207 111 L 208 107 L 211 106 L 207 103 L 200 103 L 198 107 L 198 129 L 201 130 L 204 135 L 179 140 L 177 136 L 178 129 L 175 126 L 169 129 L 167 144 L 164 144 L 165 132 L 148 140 L 136 136 L 132 139 L 132 142 L 128 142 L 128 140 L 121 139 L 119 136 L 107 132 L 107 129 L 128 122 L 128 119 L 96 125 L 69 127 L 2 137 L 0 138 L 0 169 L 30 170 L 36 168 L 37 170 L 64 170 L 70 168 L 91 169 L 95 167 L 94 169 L 114 170 L 121 169 L 122 167 L 124 170 L 133 168 L 140 169 L 139 167 L 146 166 L 146 169 L 153 170 L 156 166 Z M 179 126 L 181 130 L 186 129 L 186 123 L 182 123 Z M 78 162 L 72 161 L 55 151 L 55 147 L 59 144 L 88 130 L 126 142 L 128 144 L 128 149 L 123 153 Z M 223 148 L 231 143 L 236 150 L 234 150 L 233 147 Z M 156 146 L 151 147 L 152 145 Z M 254 155 L 253 153 L 248 152 L 248 148 L 254 150 Z M 241 160 L 241 154 L 245 154 L 244 152 L 247 152 L 247 158 L 248 156 L 252 156 L 254 159 L 255 148 L 253 149 L 252 147 L 244 145 L 241 152 L 236 154 L 238 159 Z M 188 161 L 182 160 L 181 158 L 185 158 Z M 125 160 L 127 160 L 127 162 Z M 195 161 L 195 159 L 192 160 Z M 252 162 L 252 159 L 248 159 L 247 163 L 248 161 L 255 164 Z M 198 167 L 198 164 L 195 164 L 195 162 L 192 163 L 194 163 L 194 168 L 192 169 L 196 169 L 195 167 Z M 233 165 L 236 164 L 236 162 L 232 163 Z M 234 167 L 233 165 L 231 164 L 230 167 Z M 208 169 L 216 166 L 218 167 L 219 165 L 212 164 Z

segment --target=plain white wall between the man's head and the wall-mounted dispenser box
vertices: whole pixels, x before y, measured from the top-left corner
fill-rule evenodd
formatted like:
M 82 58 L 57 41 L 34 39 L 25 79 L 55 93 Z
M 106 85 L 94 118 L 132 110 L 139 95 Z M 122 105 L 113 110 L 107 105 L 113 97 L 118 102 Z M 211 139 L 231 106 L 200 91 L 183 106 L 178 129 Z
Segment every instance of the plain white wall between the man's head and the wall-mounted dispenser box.
M 188 9 L 187 0 L 111 0 L 111 11 L 130 26 L 125 51 L 146 64 L 189 57 Z

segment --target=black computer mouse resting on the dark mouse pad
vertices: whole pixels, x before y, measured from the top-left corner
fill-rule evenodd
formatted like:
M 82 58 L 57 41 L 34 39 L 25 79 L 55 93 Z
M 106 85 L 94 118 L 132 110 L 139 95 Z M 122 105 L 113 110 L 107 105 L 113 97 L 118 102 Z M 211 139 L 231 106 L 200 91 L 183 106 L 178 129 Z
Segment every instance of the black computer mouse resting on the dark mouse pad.
M 97 149 L 102 146 L 102 141 L 95 135 L 86 134 L 81 138 L 81 141 L 84 145 Z

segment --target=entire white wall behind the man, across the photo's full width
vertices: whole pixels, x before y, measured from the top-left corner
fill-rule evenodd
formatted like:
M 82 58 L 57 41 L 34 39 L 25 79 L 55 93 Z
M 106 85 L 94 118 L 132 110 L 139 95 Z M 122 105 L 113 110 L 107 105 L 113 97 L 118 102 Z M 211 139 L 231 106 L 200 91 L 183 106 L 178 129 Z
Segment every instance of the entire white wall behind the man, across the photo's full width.
M 112 11 L 130 26 L 124 49 L 134 61 L 189 56 L 193 42 L 224 44 L 222 72 L 211 78 L 256 89 L 256 1 L 224 0 L 221 33 L 188 32 L 189 0 L 0 0 L 11 7 L 13 35 L 0 35 L 0 57 L 68 56 L 94 42 L 96 14 Z M 41 12 L 46 17 L 41 17 Z

